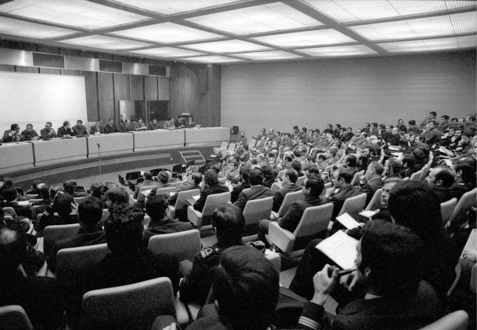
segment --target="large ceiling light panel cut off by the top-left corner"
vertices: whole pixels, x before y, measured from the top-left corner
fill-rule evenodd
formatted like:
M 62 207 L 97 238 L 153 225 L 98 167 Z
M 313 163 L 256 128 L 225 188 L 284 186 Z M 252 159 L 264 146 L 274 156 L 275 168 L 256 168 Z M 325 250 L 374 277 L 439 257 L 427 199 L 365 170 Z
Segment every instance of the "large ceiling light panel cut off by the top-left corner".
M 149 19 L 86 0 L 15 0 L 2 4 L 0 11 L 88 30 Z

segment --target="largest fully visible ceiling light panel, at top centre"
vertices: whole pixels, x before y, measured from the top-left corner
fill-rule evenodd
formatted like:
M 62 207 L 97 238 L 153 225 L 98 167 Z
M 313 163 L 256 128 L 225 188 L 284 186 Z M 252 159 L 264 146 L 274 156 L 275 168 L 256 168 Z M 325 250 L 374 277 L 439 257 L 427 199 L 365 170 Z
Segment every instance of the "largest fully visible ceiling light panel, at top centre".
M 323 25 L 281 2 L 197 16 L 186 21 L 236 35 Z

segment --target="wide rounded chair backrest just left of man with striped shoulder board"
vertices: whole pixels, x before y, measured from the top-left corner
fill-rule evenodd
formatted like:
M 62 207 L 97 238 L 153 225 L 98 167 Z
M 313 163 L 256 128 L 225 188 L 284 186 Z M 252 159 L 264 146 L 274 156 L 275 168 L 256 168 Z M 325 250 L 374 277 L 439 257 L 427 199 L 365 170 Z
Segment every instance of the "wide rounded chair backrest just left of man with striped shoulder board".
M 200 232 L 197 229 L 178 233 L 154 235 L 149 238 L 147 248 L 153 252 L 173 255 L 177 260 L 194 260 L 200 252 Z

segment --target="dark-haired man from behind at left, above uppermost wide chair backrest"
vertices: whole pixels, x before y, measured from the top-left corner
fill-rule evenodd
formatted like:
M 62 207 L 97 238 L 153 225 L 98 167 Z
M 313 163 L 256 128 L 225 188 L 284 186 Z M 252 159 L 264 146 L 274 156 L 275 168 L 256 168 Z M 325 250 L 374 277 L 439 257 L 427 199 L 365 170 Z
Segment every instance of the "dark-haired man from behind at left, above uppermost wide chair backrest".
M 58 216 L 54 214 L 58 213 Z M 57 191 L 53 202 L 47 206 L 46 210 L 37 222 L 37 237 L 43 236 L 43 230 L 47 226 L 69 225 L 78 223 L 78 204 L 70 194 Z

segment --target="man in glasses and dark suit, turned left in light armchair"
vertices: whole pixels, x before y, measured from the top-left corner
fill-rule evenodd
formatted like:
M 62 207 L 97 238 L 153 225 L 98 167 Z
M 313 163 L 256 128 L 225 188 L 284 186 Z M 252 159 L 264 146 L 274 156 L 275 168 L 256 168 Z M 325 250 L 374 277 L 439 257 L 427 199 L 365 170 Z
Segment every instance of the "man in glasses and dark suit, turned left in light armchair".
M 301 192 L 305 195 L 305 198 L 293 202 L 290 205 L 287 213 L 277 220 L 277 223 L 283 229 L 293 232 L 300 223 L 301 216 L 305 212 L 305 209 L 312 206 L 319 206 L 326 203 L 324 197 L 320 197 L 321 191 L 324 188 L 324 181 L 321 177 L 316 175 L 308 175 L 301 184 Z M 259 222 L 259 240 L 268 243 L 265 239 L 265 234 L 268 234 L 269 225 L 271 220 L 263 219 Z M 303 248 L 308 242 L 316 237 L 301 237 L 297 239 L 293 247 Z M 303 246 L 304 245 L 304 246 Z M 302 247 L 303 246 L 303 247 Z

